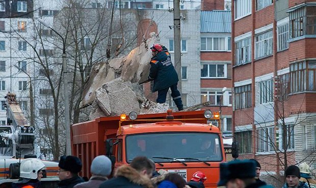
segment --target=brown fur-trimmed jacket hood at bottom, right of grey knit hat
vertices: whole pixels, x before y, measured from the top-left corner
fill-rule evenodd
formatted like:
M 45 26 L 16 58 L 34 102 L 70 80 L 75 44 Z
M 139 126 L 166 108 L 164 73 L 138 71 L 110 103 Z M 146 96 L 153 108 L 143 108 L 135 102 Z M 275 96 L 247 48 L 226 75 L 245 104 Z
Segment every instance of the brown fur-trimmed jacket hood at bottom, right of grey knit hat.
M 130 182 L 133 182 L 135 184 L 142 185 L 148 188 L 154 188 L 152 181 L 148 177 L 140 175 L 137 170 L 128 165 L 120 166 L 116 170 L 114 176 L 123 176 L 127 178 Z

